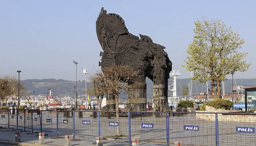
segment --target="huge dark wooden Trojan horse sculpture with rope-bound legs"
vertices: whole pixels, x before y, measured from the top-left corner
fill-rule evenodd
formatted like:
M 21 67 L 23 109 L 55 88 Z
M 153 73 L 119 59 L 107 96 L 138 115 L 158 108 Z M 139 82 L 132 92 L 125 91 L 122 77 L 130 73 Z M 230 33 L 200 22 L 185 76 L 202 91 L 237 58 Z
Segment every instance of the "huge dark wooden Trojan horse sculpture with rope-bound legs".
M 117 14 L 107 14 L 101 8 L 96 21 L 96 31 L 99 43 L 103 49 L 100 53 L 102 68 L 112 65 L 130 65 L 133 70 L 138 70 L 139 82 L 136 89 L 129 92 L 128 108 L 133 110 L 146 109 L 146 77 L 154 82 L 154 109 L 165 111 L 169 109 L 167 99 L 167 86 L 172 62 L 164 46 L 153 43 L 150 37 L 132 35 L 125 27 L 124 20 Z M 115 109 L 113 95 L 108 95 L 106 104 L 110 109 Z

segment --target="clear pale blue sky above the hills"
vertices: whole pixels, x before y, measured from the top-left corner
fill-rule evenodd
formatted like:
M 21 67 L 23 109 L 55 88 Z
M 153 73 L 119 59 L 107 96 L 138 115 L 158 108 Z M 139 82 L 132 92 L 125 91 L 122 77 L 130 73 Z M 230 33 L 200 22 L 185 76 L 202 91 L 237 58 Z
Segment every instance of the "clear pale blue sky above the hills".
M 102 51 L 96 35 L 95 22 L 101 7 L 120 15 L 133 35 L 149 36 L 154 43 L 165 46 L 173 70 L 189 78 L 181 65 L 188 44 L 193 40 L 194 22 L 202 18 L 219 19 L 244 38 L 241 51 L 248 52 L 251 63 L 247 72 L 235 78 L 255 78 L 256 1 L 239 0 L 0 0 L 0 75 L 20 78 L 56 78 L 85 80 L 98 67 Z M 227 78 L 231 78 L 228 75 Z

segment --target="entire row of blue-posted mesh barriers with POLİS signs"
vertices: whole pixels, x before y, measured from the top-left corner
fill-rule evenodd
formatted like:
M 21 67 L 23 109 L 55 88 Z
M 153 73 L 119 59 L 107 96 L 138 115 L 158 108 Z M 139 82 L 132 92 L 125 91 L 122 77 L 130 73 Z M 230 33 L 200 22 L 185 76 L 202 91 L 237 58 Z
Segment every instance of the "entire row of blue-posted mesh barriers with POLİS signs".
M 187 146 L 256 145 L 256 114 L 154 111 L 0 110 L 0 124 L 15 130 L 106 137 Z M 117 136 L 118 135 L 118 136 Z M 128 144 L 128 143 L 127 143 Z

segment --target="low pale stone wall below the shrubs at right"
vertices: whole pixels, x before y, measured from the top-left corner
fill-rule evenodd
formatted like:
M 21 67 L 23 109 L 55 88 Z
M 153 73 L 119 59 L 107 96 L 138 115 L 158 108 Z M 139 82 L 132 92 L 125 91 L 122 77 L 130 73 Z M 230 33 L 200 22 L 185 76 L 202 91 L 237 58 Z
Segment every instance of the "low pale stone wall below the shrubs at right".
M 206 111 L 200 111 L 202 113 L 196 113 L 196 119 L 202 119 L 206 121 L 215 121 L 215 114 L 206 114 Z M 242 114 L 218 114 L 219 122 L 244 122 L 244 123 L 256 123 L 256 115 L 242 115 Z

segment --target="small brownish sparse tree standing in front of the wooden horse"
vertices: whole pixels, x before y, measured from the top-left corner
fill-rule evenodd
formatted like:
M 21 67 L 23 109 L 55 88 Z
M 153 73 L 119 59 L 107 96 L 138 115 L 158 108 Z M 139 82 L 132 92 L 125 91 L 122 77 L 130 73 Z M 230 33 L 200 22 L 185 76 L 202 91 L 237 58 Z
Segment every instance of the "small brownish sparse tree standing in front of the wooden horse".
M 116 65 L 102 68 L 102 72 L 96 73 L 93 78 L 94 86 L 98 92 L 112 94 L 115 97 L 116 103 L 116 120 L 119 122 L 118 100 L 119 94 L 123 91 L 129 93 L 135 89 L 136 83 L 133 79 L 136 78 L 138 72 L 134 71 L 128 65 Z M 117 135 L 120 135 L 120 127 L 117 126 Z

